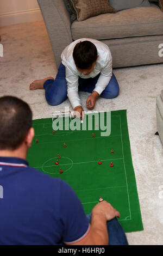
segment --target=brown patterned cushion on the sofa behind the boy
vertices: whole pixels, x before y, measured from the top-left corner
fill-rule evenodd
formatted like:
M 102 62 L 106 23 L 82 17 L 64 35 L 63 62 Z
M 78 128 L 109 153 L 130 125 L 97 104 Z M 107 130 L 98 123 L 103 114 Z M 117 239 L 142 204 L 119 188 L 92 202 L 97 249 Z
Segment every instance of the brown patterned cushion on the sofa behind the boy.
M 77 13 L 77 20 L 83 21 L 90 17 L 105 13 L 116 13 L 108 0 L 71 0 Z

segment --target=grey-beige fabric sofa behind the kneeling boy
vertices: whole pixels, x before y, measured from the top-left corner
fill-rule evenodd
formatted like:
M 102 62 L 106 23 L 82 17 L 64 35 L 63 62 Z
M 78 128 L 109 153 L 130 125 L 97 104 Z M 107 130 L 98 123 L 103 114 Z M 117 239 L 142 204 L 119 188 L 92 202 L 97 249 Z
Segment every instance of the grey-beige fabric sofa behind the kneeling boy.
M 93 38 L 112 53 L 113 68 L 162 63 L 163 12 L 156 4 L 102 14 L 71 23 L 64 0 L 37 0 L 45 21 L 57 66 L 61 52 L 72 41 Z

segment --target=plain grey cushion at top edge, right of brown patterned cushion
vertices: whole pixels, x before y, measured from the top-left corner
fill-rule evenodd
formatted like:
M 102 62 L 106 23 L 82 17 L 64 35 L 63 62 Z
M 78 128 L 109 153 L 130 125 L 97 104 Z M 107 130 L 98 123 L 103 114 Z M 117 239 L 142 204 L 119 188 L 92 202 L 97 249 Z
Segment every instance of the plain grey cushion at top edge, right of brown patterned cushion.
M 116 9 L 116 11 L 120 11 L 135 7 L 147 7 L 150 6 L 150 3 L 148 0 L 110 0 L 110 5 Z

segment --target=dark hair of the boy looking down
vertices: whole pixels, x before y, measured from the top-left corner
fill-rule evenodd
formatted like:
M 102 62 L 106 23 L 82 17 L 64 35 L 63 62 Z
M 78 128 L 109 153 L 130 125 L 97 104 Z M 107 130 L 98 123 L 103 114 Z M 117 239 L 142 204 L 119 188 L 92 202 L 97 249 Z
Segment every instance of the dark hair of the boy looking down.
M 97 48 L 90 41 L 78 42 L 73 49 L 73 59 L 77 68 L 90 69 L 97 59 Z

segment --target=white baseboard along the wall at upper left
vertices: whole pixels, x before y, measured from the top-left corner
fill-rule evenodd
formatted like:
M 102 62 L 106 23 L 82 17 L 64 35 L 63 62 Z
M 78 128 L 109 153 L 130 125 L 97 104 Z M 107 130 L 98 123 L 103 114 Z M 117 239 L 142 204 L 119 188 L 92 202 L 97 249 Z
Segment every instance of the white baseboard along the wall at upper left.
M 0 14 L 0 27 L 42 20 L 39 8 Z

